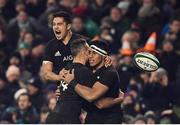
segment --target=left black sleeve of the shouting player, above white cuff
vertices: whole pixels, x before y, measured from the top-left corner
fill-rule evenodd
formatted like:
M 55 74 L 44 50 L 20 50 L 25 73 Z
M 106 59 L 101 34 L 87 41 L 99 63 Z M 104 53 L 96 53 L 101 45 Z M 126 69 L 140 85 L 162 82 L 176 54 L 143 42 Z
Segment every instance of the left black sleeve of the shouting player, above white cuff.
M 54 62 L 53 46 L 50 43 L 46 45 L 45 52 L 43 55 L 43 61 Z

